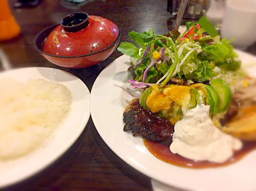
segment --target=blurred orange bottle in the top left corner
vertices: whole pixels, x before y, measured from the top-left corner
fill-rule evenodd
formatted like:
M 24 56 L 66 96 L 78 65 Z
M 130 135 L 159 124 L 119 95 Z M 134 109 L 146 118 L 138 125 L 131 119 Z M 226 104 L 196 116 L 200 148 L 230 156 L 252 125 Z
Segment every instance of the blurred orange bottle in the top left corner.
M 20 34 L 20 26 L 12 16 L 7 0 L 0 0 L 0 41 L 12 39 Z

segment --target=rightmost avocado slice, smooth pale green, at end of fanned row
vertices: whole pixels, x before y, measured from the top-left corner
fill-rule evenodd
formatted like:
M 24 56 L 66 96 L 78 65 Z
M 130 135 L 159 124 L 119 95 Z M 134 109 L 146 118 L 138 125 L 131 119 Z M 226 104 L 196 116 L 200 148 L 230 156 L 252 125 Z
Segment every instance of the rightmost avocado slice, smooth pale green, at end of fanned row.
M 222 79 L 213 79 L 210 85 L 217 92 L 220 100 L 218 102 L 218 112 L 224 112 L 231 103 L 232 93 L 228 84 Z

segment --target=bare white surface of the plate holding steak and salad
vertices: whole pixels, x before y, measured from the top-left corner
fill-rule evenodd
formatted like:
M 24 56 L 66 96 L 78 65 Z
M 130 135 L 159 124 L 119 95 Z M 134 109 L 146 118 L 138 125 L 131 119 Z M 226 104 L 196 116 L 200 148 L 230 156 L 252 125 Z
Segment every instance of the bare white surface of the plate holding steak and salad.
M 242 63 L 256 63 L 256 57 L 237 51 Z M 123 55 L 104 69 L 91 91 L 91 116 L 100 136 L 121 159 L 145 175 L 181 189 L 200 191 L 248 191 L 256 189 L 256 151 L 226 167 L 187 169 L 155 158 L 141 138 L 123 132 L 123 111 L 133 97 L 128 88 L 129 57 Z M 256 75 L 256 67 L 250 69 Z

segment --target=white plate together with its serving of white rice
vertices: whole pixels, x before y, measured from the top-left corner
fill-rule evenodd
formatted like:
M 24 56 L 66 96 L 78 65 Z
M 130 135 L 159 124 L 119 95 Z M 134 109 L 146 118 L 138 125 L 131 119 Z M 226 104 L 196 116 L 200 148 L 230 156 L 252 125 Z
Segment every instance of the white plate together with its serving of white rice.
M 0 188 L 64 154 L 90 117 L 90 92 L 74 75 L 32 67 L 0 73 Z

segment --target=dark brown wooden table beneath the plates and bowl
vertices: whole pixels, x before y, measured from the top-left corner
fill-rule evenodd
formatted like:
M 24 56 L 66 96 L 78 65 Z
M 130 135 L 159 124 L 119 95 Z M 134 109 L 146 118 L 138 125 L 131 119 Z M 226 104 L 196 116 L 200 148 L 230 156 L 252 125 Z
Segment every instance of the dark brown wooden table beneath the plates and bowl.
M 12 5 L 16 0 L 9 0 Z M 73 5 L 73 6 L 71 6 Z M 81 4 L 80 4 L 81 5 Z M 11 67 L 55 67 L 81 78 L 89 90 L 102 69 L 121 56 L 115 51 L 100 65 L 85 69 L 64 69 L 46 61 L 34 48 L 34 38 L 44 28 L 60 22 L 67 14 L 84 11 L 109 18 L 121 30 L 121 41 L 128 41 L 128 32 L 154 28 L 156 33 L 168 31 L 171 14 L 167 0 L 88 0 L 81 7 L 65 0 L 44 0 L 33 9 L 12 9 L 22 28 L 22 35 L 0 43 Z M 256 54 L 256 44 L 247 49 Z M 4 68 L 0 65 L 0 71 Z M 136 171 L 116 156 L 99 136 L 90 118 L 75 145 L 53 165 L 7 190 L 151 190 L 150 178 Z

